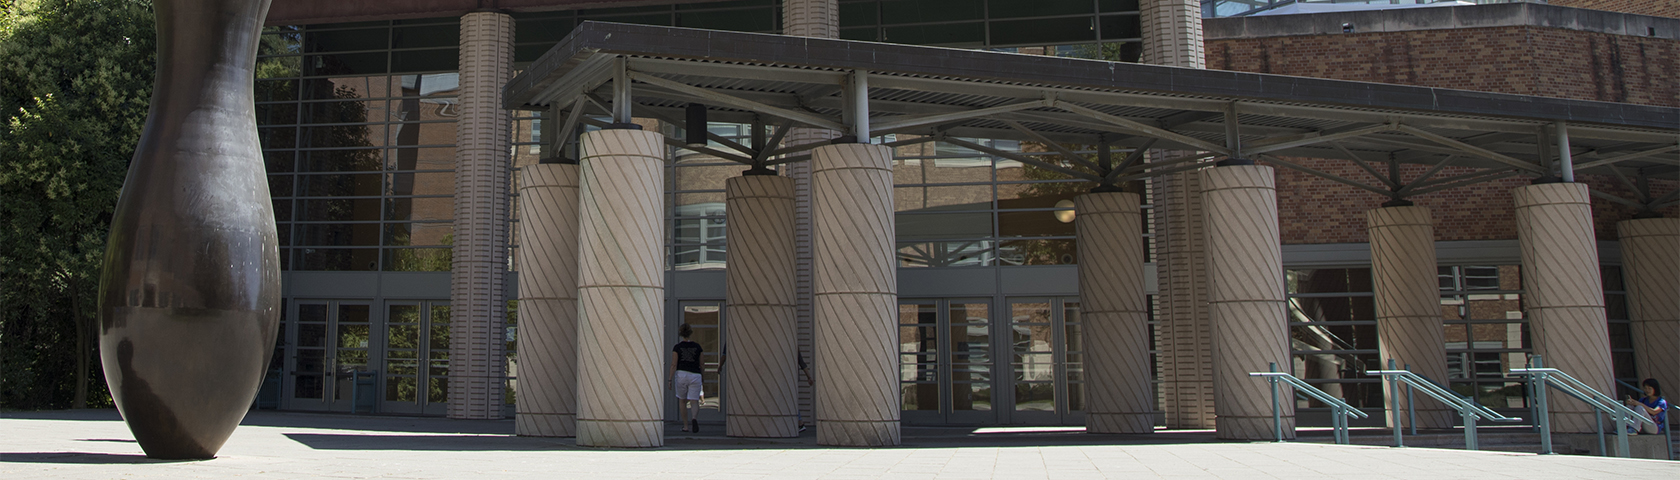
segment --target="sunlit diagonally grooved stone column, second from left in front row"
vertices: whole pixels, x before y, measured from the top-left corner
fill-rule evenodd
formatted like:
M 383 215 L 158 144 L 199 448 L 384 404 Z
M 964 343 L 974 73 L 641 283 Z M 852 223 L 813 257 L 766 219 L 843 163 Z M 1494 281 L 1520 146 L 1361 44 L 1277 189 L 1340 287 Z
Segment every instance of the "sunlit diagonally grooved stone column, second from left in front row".
M 899 445 L 892 149 L 811 151 L 816 443 Z

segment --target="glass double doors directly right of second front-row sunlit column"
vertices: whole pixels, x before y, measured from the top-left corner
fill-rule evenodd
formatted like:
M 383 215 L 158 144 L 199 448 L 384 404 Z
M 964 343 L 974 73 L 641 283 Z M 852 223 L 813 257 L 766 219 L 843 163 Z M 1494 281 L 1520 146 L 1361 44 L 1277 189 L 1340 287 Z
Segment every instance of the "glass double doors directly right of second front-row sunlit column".
M 899 393 L 911 425 L 996 423 L 991 302 L 899 300 Z

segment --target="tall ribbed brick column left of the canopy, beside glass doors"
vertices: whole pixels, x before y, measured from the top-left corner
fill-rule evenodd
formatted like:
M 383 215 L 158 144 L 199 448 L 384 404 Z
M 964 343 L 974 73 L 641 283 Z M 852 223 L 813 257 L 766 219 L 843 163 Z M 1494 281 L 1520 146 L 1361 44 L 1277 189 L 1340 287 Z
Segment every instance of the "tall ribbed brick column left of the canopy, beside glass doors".
M 449 418 L 502 418 L 507 302 L 507 158 L 514 20 L 460 17 L 460 117 L 455 121 L 455 247 L 449 300 Z

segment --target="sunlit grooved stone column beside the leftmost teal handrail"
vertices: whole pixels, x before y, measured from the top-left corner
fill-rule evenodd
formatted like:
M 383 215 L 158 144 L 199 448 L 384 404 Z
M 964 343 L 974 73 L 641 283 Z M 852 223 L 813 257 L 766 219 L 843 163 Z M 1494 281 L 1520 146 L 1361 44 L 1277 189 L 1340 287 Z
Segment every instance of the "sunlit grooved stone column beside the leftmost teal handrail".
M 1290 371 L 1275 181 L 1270 166 L 1201 171 L 1215 431 L 1226 440 L 1272 438 L 1272 389 L 1248 373 L 1272 363 Z M 1278 411 L 1284 438 L 1294 438 L 1294 389 L 1278 389 Z

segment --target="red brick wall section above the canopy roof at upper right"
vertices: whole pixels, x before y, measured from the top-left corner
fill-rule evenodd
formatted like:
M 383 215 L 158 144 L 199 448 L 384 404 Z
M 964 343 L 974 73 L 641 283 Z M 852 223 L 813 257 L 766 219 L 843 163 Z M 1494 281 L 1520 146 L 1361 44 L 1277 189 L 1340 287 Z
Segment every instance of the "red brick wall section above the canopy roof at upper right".
M 1680 107 L 1680 40 L 1497 27 L 1208 40 L 1208 67 Z

